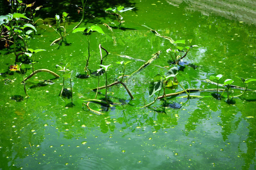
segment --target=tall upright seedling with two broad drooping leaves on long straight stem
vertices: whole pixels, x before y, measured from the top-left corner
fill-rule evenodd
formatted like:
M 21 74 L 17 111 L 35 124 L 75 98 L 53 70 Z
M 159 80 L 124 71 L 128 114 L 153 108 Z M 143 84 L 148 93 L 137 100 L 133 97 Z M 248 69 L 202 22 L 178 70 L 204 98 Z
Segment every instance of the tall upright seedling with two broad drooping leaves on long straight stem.
M 105 34 L 103 31 L 102 31 L 102 29 L 99 27 L 99 26 L 91 26 L 91 27 L 89 27 L 88 29 L 87 29 L 87 31 L 86 32 L 84 32 L 85 31 L 85 27 L 83 27 L 83 28 L 75 28 L 73 31 L 72 31 L 72 33 L 76 33 L 76 32 L 81 32 L 83 35 L 85 35 L 85 38 L 86 38 L 86 40 L 87 40 L 87 42 L 88 42 L 88 57 L 86 57 L 85 59 L 86 59 L 86 65 L 85 65 L 85 72 L 87 73 L 87 76 L 89 76 L 89 70 L 88 70 L 88 65 L 89 65 L 89 59 L 90 59 L 90 39 L 91 39 L 91 34 L 92 34 L 92 32 L 93 31 L 97 31 L 97 32 L 99 32 L 99 33 L 101 33 L 101 34 Z M 90 38 L 88 38 L 86 35 L 89 35 L 90 34 Z

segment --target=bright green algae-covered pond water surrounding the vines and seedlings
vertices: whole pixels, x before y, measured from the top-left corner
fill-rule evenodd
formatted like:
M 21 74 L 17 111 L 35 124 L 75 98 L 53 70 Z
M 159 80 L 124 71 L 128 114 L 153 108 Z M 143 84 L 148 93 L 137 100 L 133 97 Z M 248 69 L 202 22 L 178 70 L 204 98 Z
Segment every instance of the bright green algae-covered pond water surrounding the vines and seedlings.
M 49 11 L 48 15 L 45 11 L 51 4 L 38 12 L 46 24 L 38 22 L 38 32 L 29 44 L 32 49 L 46 50 L 36 55 L 35 69 L 49 69 L 62 75 L 55 65 L 71 63 L 69 69 L 74 71 L 73 107 L 66 107 L 71 98 L 61 99 L 59 96 L 62 77 L 52 80 L 54 84 L 34 87 L 43 80 L 54 78 L 44 72 L 26 81 L 30 96 L 26 98 L 24 87 L 20 84 L 21 75 L 9 71 L 9 66 L 15 62 L 13 47 L 10 51 L 0 50 L 0 169 L 255 169 L 255 91 L 247 91 L 242 97 L 234 98 L 232 104 L 216 100 L 211 96 L 212 92 L 196 92 L 193 95 L 209 97 L 167 98 L 168 106 L 163 106 L 164 101 L 157 100 L 152 108 L 139 108 L 144 105 L 143 97 L 147 104 L 154 100 L 153 97 L 148 98 L 149 82 L 154 75 L 165 74 L 168 68 L 174 66 L 168 64 L 171 57 L 166 53 L 171 47 L 170 42 L 155 36 L 142 25 L 174 40 L 193 39 L 192 45 L 199 47 L 191 49 L 183 59 L 185 68 L 179 71 L 177 77 L 184 88 L 205 89 L 216 88 L 216 85 L 201 81 L 209 79 L 210 75 L 223 74 L 220 83 L 230 78 L 238 86 L 243 84 L 235 76 L 256 78 L 255 25 L 214 13 L 202 15 L 199 11 L 188 10 L 185 2 L 178 7 L 162 0 L 123 3 L 135 7 L 122 13 L 125 20 L 122 26 L 127 29 L 113 29 L 111 32 L 102 23 L 116 22 L 115 18 L 97 10 L 104 7 L 102 3 L 97 6 L 88 1 L 87 5 L 91 4 L 91 8 L 87 8 L 87 12 L 91 11 L 96 18 L 85 15 L 80 27 L 97 24 L 105 32 L 93 32 L 91 35 L 90 49 L 93 52 L 90 71 L 99 69 L 99 43 L 110 52 L 105 56 L 102 51 L 105 56 L 103 64 L 113 65 L 107 71 L 109 82 L 120 76 L 121 66 L 115 62 L 129 61 L 119 57 L 119 54 L 147 61 L 158 50 L 162 53 L 127 82 L 134 100 L 120 85 L 108 89 L 108 99 L 121 102 L 123 106 L 118 105 L 108 111 L 103 108 L 104 115 L 96 115 L 82 107 L 83 100 L 95 97 L 95 92 L 90 89 L 97 87 L 98 77 L 93 74 L 87 79 L 76 77 L 85 74 L 85 56 L 88 54 L 85 37 L 80 33 L 71 33 L 81 18 L 76 13 L 76 7 L 65 7 L 68 13 L 73 14 L 67 26 L 68 45 L 63 42 L 50 46 L 58 35 L 46 25 L 49 23 L 55 27 L 54 15 L 61 15 L 63 11 L 57 11 L 57 7 L 62 4 L 53 4 L 56 11 Z M 24 62 L 25 56 L 19 58 Z M 143 64 L 141 61 L 130 61 L 126 74 Z M 32 66 L 28 63 L 23 64 L 26 67 L 25 77 L 32 73 Z M 197 67 L 190 67 L 189 63 Z M 13 82 L 4 84 L 4 79 Z M 105 75 L 101 75 L 100 86 L 104 84 Z M 65 88 L 70 88 L 69 79 L 65 80 Z M 255 83 L 250 82 L 249 88 L 255 90 Z M 166 89 L 166 93 L 181 90 L 181 87 Z M 101 92 L 98 99 L 104 98 L 105 90 Z M 234 93 L 241 94 L 241 90 L 235 89 Z M 15 95 L 24 98 L 22 101 L 12 100 Z M 100 109 L 96 104 L 90 107 Z

